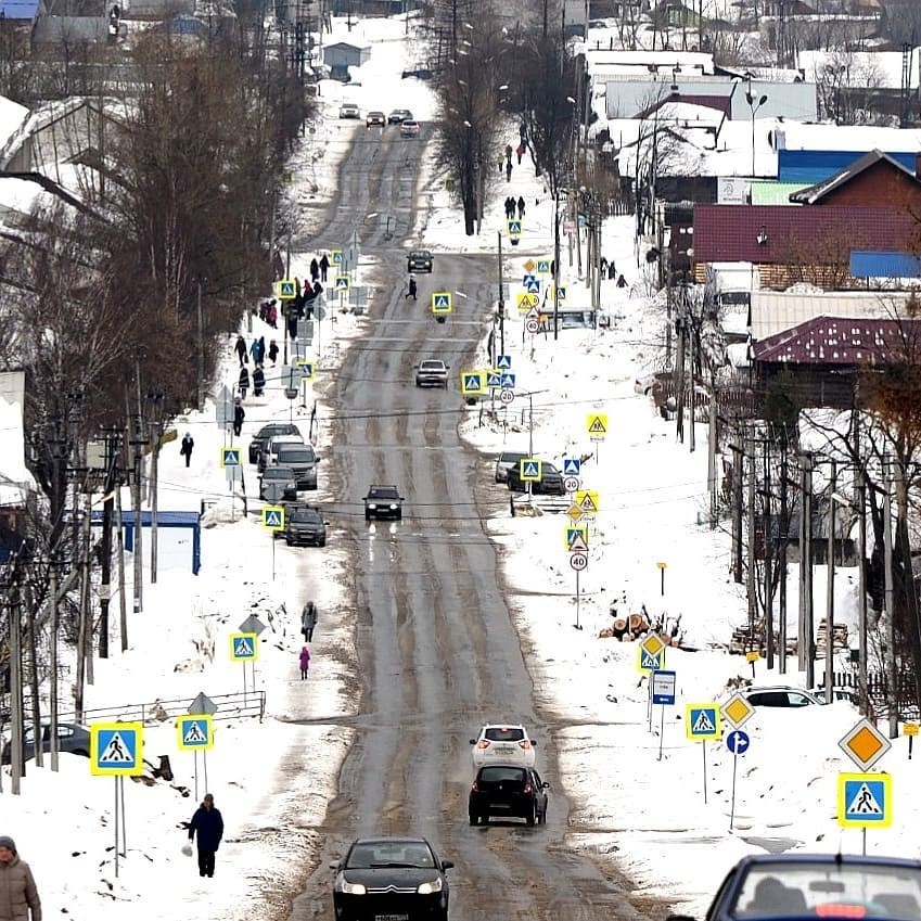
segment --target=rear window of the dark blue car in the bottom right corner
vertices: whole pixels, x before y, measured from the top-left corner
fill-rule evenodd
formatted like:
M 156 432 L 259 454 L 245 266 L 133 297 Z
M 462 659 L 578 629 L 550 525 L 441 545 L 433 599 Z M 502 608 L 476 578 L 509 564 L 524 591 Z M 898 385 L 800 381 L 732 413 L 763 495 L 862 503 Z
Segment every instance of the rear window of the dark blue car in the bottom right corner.
M 921 921 L 921 871 L 913 867 L 836 864 L 832 859 L 759 862 L 745 874 L 730 913 L 737 918 Z

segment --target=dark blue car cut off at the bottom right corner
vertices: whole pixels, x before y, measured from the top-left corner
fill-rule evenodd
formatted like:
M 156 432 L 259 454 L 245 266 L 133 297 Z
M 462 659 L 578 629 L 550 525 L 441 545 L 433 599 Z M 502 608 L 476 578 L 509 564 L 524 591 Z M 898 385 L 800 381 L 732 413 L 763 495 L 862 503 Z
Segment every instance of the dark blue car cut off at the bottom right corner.
M 726 875 L 707 921 L 921 918 L 921 861 L 856 854 L 756 854 Z M 666 921 L 695 921 L 669 914 Z

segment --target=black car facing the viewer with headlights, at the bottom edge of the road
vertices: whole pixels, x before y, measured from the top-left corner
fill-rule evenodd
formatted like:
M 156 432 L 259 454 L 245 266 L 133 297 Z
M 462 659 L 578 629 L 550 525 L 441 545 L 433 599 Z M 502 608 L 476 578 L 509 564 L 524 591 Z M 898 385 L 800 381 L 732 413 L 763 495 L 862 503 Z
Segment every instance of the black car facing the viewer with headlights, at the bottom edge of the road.
M 359 837 L 330 864 L 336 921 L 447 921 L 446 871 L 453 866 L 424 837 Z

